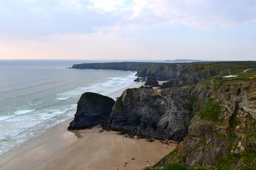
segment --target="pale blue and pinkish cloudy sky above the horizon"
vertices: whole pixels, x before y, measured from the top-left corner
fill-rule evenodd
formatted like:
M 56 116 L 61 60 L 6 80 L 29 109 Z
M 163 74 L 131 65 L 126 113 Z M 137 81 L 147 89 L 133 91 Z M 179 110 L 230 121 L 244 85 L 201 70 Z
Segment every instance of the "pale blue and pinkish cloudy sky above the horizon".
M 0 59 L 256 60 L 256 1 L 0 0 Z

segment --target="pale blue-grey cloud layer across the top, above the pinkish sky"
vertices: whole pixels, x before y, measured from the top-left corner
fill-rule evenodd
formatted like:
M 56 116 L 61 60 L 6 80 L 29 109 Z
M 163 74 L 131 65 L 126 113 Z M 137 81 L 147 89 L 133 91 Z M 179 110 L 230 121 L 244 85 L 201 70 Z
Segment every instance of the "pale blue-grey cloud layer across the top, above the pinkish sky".
M 238 27 L 256 20 L 254 0 L 0 0 L 0 34 L 53 35 L 173 27 Z

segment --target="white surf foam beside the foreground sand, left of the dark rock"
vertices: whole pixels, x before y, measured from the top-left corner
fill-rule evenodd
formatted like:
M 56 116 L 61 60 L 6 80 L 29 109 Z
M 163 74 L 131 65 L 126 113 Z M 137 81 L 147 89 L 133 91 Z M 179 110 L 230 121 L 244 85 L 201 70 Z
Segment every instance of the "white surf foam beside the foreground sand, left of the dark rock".
M 0 156 L 12 148 L 28 141 L 46 129 L 68 120 L 74 115 L 77 105 L 68 105 L 61 110 L 27 112 L 3 120 L 0 124 Z M 68 114 L 69 111 L 72 111 Z M 21 113 L 21 112 L 20 112 Z

